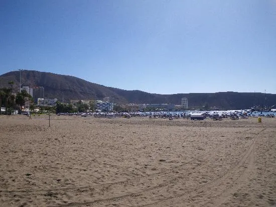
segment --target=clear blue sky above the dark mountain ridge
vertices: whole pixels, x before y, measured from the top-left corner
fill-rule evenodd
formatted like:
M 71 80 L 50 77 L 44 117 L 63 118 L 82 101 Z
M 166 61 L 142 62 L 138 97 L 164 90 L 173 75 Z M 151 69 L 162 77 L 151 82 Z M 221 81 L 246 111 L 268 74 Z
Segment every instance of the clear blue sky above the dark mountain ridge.
M 275 0 L 0 0 L 0 74 L 126 90 L 276 93 Z

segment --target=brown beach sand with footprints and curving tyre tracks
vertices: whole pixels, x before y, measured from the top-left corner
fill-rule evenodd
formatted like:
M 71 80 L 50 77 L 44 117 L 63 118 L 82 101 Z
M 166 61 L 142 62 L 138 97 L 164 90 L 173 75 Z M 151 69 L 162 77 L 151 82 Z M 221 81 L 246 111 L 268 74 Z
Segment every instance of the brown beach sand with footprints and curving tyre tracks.
M 273 206 L 276 118 L 0 116 L 0 206 Z

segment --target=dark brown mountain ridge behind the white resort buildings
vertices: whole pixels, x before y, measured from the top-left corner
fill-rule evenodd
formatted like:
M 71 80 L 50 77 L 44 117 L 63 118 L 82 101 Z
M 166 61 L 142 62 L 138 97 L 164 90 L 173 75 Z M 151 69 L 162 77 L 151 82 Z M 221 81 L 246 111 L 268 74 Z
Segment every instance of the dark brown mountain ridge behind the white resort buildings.
M 19 90 L 20 71 L 12 71 L 0 75 L 0 88 L 9 87 L 8 82 L 14 81 L 14 91 Z M 89 81 L 49 72 L 23 70 L 21 72 L 22 86 L 43 86 L 44 97 L 58 98 L 65 101 L 70 99 L 102 99 L 105 96 L 114 97 L 118 104 L 176 104 L 181 105 L 181 98 L 187 97 L 189 108 L 202 106 L 218 107 L 221 109 L 248 109 L 253 105 L 272 106 L 276 104 L 276 94 L 216 92 L 216 93 L 178 93 L 156 94 L 140 90 L 123 90 L 91 83 Z

